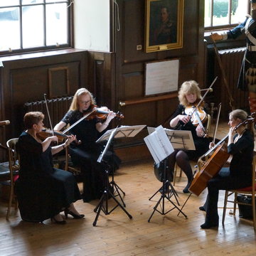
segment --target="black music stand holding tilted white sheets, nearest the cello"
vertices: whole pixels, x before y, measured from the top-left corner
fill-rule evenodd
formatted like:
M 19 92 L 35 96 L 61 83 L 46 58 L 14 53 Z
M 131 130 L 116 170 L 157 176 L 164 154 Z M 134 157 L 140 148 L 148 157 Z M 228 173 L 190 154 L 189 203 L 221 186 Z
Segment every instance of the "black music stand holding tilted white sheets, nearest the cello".
M 174 151 L 174 149 L 171 145 L 171 142 L 169 141 L 169 138 L 166 135 L 166 132 L 164 131 L 163 127 L 161 126 L 157 127 L 156 131 L 153 132 L 152 134 L 149 134 L 149 136 L 144 138 L 144 140 L 156 164 L 159 163 L 159 161 L 164 161 L 164 178 L 162 181 L 163 186 L 158 191 L 156 191 L 156 193 L 158 192 L 161 193 L 161 197 L 159 198 L 159 201 L 157 201 L 156 205 L 154 206 L 154 210 L 151 213 L 148 222 L 150 222 L 155 211 L 157 211 L 161 215 L 166 215 L 167 213 L 169 213 L 171 210 L 174 210 L 175 208 L 178 210 L 179 213 L 182 213 L 184 217 L 187 218 L 187 215 L 183 213 L 183 211 L 180 208 L 178 208 L 179 204 L 178 206 L 176 206 L 176 204 L 173 201 L 171 201 L 171 196 L 174 195 L 176 198 L 177 194 L 176 194 L 176 191 L 174 190 L 174 186 L 172 186 L 171 182 L 168 181 L 166 178 L 166 169 L 167 169 L 166 163 L 167 163 L 168 156 Z M 166 188 L 166 184 L 168 184 L 167 188 Z M 166 196 L 167 192 L 168 192 L 168 196 Z M 165 208 L 164 208 L 165 199 L 169 201 L 169 203 L 171 203 L 172 206 L 174 206 L 173 208 L 167 211 L 165 211 Z M 176 202 L 178 203 L 177 198 L 176 198 Z M 161 207 L 161 211 L 157 209 L 158 206 Z

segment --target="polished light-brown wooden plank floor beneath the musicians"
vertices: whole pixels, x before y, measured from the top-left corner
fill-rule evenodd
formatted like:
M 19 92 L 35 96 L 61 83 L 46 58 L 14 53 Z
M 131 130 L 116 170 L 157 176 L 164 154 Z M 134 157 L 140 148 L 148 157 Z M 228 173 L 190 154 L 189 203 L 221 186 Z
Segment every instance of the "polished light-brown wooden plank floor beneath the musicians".
M 85 213 L 85 219 L 68 218 L 66 225 L 50 220 L 26 223 L 14 210 L 6 222 L 6 203 L 1 202 L 0 255 L 256 255 L 252 223 L 239 218 L 238 213 L 235 217 L 227 213 L 225 226 L 221 225 L 223 193 L 219 201 L 219 228 L 202 230 L 205 213 L 198 207 L 203 204 L 206 191 L 189 198 L 183 208 L 188 218 L 177 216 L 178 210 L 174 209 L 166 215 L 155 212 L 148 223 L 160 194 L 151 201 L 149 197 L 161 187 L 154 176 L 152 159 L 123 164 L 114 179 L 126 193 L 124 202 L 131 220 L 118 207 L 110 215 L 101 213 L 94 227 L 93 209 L 98 201 L 78 201 L 75 206 Z M 188 198 L 188 194 L 182 193 L 185 185 L 186 178 L 182 177 L 175 186 L 181 205 Z M 114 205 L 113 200 L 109 203 L 110 207 Z M 165 207 L 170 206 L 166 201 Z

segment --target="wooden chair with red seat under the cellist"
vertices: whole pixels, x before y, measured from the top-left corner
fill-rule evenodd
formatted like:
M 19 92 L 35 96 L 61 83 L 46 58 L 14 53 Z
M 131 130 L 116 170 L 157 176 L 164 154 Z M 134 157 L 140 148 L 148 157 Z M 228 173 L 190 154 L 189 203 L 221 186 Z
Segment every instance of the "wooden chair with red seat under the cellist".
M 225 199 L 224 199 L 224 207 L 223 207 L 223 219 L 222 223 L 224 225 L 225 222 L 225 212 L 227 209 L 227 203 L 233 203 L 233 215 L 235 215 L 236 205 L 244 205 L 252 207 L 252 221 L 253 227 L 256 230 L 256 214 L 255 214 L 255 166 L 256 166 L 256 156 L 253 157 L 252 162 L 252 186 L 247 188 L 240 188 L 235 190 L 226 190 L 225 191 Z M 234 195 L 234 199 L 228 199 L 229 196 Z M 252 196 L 252 203 L 242 203 L 238 201 L 238 195 L 250 195 Z

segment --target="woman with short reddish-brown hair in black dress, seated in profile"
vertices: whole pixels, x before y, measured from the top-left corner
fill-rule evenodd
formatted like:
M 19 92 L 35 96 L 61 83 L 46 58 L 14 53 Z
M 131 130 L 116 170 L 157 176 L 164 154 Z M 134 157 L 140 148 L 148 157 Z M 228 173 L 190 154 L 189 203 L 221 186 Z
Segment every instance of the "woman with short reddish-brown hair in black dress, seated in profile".
M 16 195 L 21 218 L 31 222 L 42 222 L 48 218 L 58 224 L 65 224 L 60 212 L 64 210 L 73 218 L 82 218 L 74 203 L 81 199 L 78 184 L 73 174 L 53 168 L 52 154 L 64 149 L 75 139 L 71 135 L 65 143 L 50 146 L 58 142 L 55 136 L 43 141 L 39 133 L 43 129 L 44 115 L 41 112 L 28 112 L 24 116 L 26 132 L 18 138 L 17 149 L 20 154 L 21 169 L 16 181 Z

